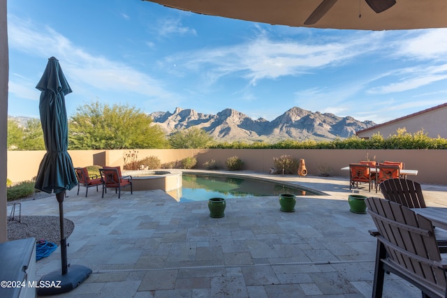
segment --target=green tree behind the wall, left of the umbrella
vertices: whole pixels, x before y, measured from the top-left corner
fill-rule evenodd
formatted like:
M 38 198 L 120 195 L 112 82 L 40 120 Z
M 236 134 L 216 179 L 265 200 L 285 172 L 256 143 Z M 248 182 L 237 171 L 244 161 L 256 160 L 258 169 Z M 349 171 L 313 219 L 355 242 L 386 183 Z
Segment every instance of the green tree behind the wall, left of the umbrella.
M 9 150 L 45 150 L 41 121 L 30 119 L 24 126 L 8 119 Z

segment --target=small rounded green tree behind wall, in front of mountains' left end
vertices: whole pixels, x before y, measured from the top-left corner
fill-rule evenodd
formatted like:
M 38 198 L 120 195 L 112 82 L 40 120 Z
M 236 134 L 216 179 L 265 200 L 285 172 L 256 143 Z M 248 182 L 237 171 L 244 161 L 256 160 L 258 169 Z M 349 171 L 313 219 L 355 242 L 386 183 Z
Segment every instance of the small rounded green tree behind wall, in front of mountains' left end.
M 200 128 L 191 127 L 183 131 L 177 131 L 169 137 L 169 144 L 175 149 L 207 148 L 213 137 Z

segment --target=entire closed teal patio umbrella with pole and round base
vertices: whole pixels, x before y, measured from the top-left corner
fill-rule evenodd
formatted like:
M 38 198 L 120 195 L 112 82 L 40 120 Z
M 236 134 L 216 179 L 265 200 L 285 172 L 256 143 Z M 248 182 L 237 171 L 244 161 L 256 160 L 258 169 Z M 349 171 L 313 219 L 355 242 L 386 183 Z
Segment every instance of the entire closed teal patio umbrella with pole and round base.
M 64 196 L 78 184 L 71 157 L 68 154 L 68 120 L 65 96 L 71 88 L 64 77 L 59 61 L 51 57 L 36 88 L 41 91 L 39 110 L 45 149 L 47 152 L 38 169 L 35 188 L 45 193 L 56 194 L 59 202 L 59 221 L 61 229 L 61 271 L 54 271 L 41 278 L 46 284 L 55 283 L 58 287 L 37 289 L 38 295 L 54 295 L 76 288 L 91 274 L 91 269 L 81 265 L 67 265 L 67 244 L 64 230 Z M 60 284 L 59 284 L 60 281 Z

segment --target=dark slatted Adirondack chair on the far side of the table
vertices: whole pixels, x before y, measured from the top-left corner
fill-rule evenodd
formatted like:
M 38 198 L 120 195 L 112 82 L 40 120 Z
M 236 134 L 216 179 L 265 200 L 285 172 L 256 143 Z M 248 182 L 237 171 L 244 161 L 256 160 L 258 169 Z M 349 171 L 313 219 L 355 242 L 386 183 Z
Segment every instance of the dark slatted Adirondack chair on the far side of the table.
M 408 208 L 426 208 L 424 195 L 420 184 L 408 179 L 395 178 L 383 181 L 380 184 L 383 198 L 392 202 L 397 202 Z M 441 246 L 441 253 L 447 253 L 447 230 L 435 228 L 434 234 Z

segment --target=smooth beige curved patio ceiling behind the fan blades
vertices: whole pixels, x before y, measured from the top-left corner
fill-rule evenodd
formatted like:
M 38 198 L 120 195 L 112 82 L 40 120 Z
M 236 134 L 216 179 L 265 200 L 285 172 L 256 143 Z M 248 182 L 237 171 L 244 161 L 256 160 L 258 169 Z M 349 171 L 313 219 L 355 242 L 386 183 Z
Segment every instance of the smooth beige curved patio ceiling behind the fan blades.
M 309 26 L 305 26 L 304 22 L 322 0 L 145 1 L 204 15 L 292 27 L 365 30 L 447 27 L 446 0 L 396 0 L 397 3 L 383 13 L 374 13 L 365 0 L 338 0 L 316 24 Z

